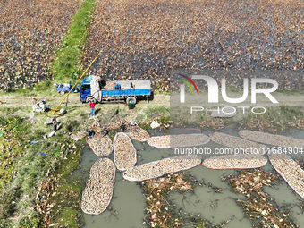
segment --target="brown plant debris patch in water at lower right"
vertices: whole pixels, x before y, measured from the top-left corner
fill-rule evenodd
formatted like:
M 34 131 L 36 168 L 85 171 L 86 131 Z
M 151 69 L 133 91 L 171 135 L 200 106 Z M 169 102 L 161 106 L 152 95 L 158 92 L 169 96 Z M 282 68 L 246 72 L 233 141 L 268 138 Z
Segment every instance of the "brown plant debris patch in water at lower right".
M 252 172 L 239 172 L 239 175 L 223 177 L 233 191 L 239 192 L 248 199 L 237 199 L 236 202 L 248 215 L 254 227 L 297 227 L 288 212 L 279 208 L 269 195 L 263 191 L 264 186 L 271 186 L 279 181 L 279 176 L 260 169 Z

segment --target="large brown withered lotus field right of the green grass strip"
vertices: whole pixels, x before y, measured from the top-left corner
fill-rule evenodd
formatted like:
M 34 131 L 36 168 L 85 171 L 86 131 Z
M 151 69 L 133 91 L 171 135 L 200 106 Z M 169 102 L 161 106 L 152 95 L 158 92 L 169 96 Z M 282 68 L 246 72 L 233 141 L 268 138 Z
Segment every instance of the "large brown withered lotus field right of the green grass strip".
M 303 17 L 300 0 L 98 1 L 87 60 L 103 49 L 93 73 L 162 89 L 173 70 L 302 70 Z

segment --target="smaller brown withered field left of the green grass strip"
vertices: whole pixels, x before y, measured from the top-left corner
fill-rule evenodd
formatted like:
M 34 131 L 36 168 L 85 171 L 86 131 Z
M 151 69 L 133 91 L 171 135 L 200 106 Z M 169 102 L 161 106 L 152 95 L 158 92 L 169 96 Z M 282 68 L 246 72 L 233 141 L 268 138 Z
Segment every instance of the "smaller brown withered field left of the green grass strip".
M 50 63 L 81 0 L 0 3 L 0 89 L 50 79 Z

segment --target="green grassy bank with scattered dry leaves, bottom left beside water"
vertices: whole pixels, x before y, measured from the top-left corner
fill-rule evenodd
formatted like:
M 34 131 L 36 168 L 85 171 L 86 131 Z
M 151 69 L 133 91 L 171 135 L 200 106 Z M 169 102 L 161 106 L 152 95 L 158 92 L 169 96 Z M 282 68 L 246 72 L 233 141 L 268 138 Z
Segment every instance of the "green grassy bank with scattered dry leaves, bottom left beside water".
M 67 131 L 68 128 L 69 125 L 66 125 L 60 131 Z M 77 183 L 65 183 L 65 178 L 79 165 L 82 144 L 74 143 L 69 135 L 58 134 L 43 139 L 49 127 L 41 127 L 41 122 L 30 124 L 19 117 L 2 118 L 1 131 L 4 135 L 0 138 L 0 227 L 39 227 L 49 224 L 54 217 L 50 208 L 55 206 L 49 200 L 55 203 L 58 200 L 54 194 L 56 186 L 63 186 L 62 192 L 73 189 L 74 198 L 77 193 L 80 197 L 81 190 Z M 41 143 L 30 144 L 30 141 Z M 69 194 L 65 194 L 64 198 L 72 201 Z M 57 209 L 56 212 L 59 212 Z M 63 211 L 65 209 L 69 207 L 64 207 Z M 56 214 L 61 216 L 60 213 Z M 61 218 L 68 217 L 63 215 Z M 71 225 L 74 221 L 65 224 Z

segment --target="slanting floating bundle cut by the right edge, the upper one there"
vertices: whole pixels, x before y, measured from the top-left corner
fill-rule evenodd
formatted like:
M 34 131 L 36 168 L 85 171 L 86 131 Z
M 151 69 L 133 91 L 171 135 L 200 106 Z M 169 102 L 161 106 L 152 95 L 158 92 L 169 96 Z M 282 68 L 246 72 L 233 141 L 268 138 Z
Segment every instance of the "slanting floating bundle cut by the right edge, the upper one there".
M 240 131 L 241 138 L 280 147 L 304 148 L 304 139 L 295 139 L 283 135 L 268 134 L 261 131 Z

